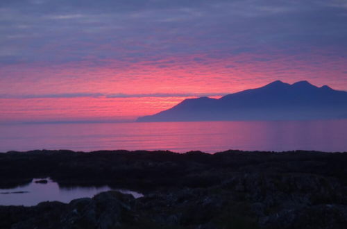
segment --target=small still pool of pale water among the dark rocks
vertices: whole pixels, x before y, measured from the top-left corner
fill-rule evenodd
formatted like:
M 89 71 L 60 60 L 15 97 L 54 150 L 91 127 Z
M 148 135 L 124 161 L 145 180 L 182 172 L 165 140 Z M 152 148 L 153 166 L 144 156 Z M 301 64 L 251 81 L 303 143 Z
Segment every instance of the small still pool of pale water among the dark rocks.
M 60 201 L 62 203 L 69 203 L 75 198 L 93 197 L 100 192 L 116 190 L 124 194 L 131 194 L 135 198 L 142 197 L 143 195 L 126 190 L 126 189 L 111 189 L 108 186 L 103 187 L 59 187 L 58 183 L 50 179 L 48 183 L 36 183 L 40 179 L 33 179 L 33 181 L 24 186 L 15 187 L 12 189 L 0 189 L 0 205 L 24 205 L 33 206 L 42 201 Z

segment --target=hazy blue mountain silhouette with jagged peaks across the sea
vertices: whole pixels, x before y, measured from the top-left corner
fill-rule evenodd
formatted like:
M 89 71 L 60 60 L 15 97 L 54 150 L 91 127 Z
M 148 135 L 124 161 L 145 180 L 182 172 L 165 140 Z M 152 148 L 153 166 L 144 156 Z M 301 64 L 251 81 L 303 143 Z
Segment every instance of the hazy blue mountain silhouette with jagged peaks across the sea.
M 220 99 L 185 99 L 169 110 L 137 121 L 298 120 L 347 118 L 347 92 L 307 81 L 276 80 Z

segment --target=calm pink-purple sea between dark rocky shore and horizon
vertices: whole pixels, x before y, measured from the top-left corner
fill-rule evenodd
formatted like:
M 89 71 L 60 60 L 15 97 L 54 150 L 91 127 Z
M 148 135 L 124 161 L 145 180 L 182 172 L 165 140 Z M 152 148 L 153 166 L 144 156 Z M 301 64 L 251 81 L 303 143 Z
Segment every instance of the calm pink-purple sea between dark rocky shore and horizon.
M 33 149 L 347 151 L 347 119 L 0 126 L 0 152 Z

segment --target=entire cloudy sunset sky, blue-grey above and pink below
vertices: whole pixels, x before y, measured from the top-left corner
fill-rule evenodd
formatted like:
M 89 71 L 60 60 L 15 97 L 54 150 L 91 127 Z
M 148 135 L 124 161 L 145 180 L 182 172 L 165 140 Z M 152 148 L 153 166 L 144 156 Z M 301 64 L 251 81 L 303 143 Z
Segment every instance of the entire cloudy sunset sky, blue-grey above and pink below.
M 347 90 L 347 0 L 1 0 L 0 123 L 131 121 L 309 80 Z

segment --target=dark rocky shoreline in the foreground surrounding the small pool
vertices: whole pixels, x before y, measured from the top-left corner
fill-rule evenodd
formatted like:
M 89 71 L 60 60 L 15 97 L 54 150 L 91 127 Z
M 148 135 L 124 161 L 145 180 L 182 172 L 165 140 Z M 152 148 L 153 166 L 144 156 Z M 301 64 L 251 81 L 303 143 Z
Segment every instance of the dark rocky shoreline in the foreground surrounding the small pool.
M 0 187 L 110 185 L 69 204 L 0 206 L 0 228 L 346 228 L 347 153 L 0 153 Z

